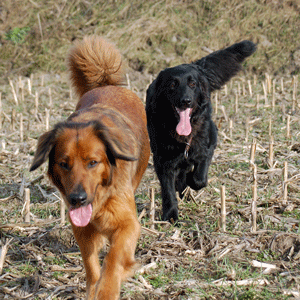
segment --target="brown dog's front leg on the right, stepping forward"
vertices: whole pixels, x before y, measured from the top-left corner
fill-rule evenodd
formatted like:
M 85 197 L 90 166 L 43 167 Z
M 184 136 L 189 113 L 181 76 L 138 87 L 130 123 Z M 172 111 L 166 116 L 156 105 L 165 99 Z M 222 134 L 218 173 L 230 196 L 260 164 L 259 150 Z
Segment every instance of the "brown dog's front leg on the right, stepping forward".
M 119 228 L 111 235 L 111 247 L 103 262 L 95 299 L 119 299 L 121 282 L 134 273 L 134 253 L 139 235 L 140 224 L 136 217 L 120 222 Z

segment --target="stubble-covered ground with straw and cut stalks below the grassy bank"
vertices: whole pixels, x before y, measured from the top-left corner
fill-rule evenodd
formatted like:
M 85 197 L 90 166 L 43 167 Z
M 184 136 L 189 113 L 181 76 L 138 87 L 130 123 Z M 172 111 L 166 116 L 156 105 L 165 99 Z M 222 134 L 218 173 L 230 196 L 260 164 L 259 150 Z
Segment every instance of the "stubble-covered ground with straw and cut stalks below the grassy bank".
M 33 76 L 32 94 L 26 78 L 12 78 L 19 105 L 9 84 L 2 92 L 0 235 L 7 244 L 0 297 L 4 299 L 83 299 L 85 273 L 70 224 L 60 225 L 59 195 L 46 178 L 45 168 L 29 173 L 37 137 L 45 131 L 45 108 L 50 125 L 65 119 L 74 109 L 68 80 L 64 76 Z M 130 86 L 144 99 L 150 76 L 129 73 Z M 253 95 L 249 95 L 247 80 Z M 24 101 L 19 82 L 24 83 Z M 272 94 L 265 105 L 264 78 L 256 85 L 252 76 L 235 78 L 218 94 L 219 145 L 210 168 L 210 183 L 191 191 L 180 201 L 178 226 L 158 222 L 161 200 L 152 161 L 136 195 L 143 226 L 136 257 L 143 272 L 124 283 L 121 299 L 293 299 L 299 297 L 299 104 L 292 110 L 293 84 L 276 77 L 275 107 Z M 235 94 L 240 86 L 238 112 Z M 49 101 L 51 88 L 52 107 Z M 245 95 L 243 95 L 243 88 Z M 35 92 L 39 95 L 36 114 Z M 260 96 L 257 108 L 257 95 Z M 215 97 L 213 96 L 213 102 Z M 299 93 L 297 93 L 299 101 Z M 223 108 L 222 108 L 223 105 Z M 215 107 L 215 103 L 214 103 Z M 11 111 L 17 114 L 11 127 Z M 283 111 L 284 110 L 284 111 Z M 224 114 L 225 112 L 225 114 Z M 19 115 L 24 120 L 20 142 Z M 36 116 L 35 116 L 36 114 Z M 248 141 L 246 141 L 246 116 Z M 291 137 L 286 137 L 290 116 Z M 274 137 L 273 169 L 268 162 L 269 119 Z M 227 118 L 227 121 L 226 121 Z M 233 120 L 230 137 L 229 119 Z M 251 232 L 253 171 L 250 146 L 256 138 L 257 232 Z M 292 150 L 294 149 L 294 150 Z M 298 151 L 298 152 L 297 152 Z M 283 201 L 284 162 L 288 163 L 288 197 Z M 38 181 L 35 181 L 38 179 Z M 220 226 L 220 189 L 226 188 L 226 233 Z M 31 222 L 24 223 L 24 188 L 31 190 Z M 150 230 L 150 189 L 154 188 L 155 220 Z M 145 210 L 145 211 L 144 211 Z M 144 212 L 143 212 L 144 211 Z M 3 253 L 3 251 L 2 251 Z M 103 259 L 105 251 L 100 254 Z M 255 266 L 258 261 L 258 267 Z M 261 263 L 271 264 L 267 268 Z

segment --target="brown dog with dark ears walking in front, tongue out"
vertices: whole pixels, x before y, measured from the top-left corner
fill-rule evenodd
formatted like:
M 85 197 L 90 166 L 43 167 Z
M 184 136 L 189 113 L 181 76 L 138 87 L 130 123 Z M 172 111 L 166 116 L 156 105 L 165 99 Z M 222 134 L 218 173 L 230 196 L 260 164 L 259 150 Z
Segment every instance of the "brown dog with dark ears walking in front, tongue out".
M 81 99 L 66 122 L 39 138 L 30 171 L 49 160 L 82 254 L 87 299 L 118 299 L 121 281 L 133 274 L 140 234 L 134 192 L 150 154 L 145 109 L 118 86 L 121 55 L 104 39 L 77 42 L 68 63 Z M 110 250 L 100 270 L 104 238 Z

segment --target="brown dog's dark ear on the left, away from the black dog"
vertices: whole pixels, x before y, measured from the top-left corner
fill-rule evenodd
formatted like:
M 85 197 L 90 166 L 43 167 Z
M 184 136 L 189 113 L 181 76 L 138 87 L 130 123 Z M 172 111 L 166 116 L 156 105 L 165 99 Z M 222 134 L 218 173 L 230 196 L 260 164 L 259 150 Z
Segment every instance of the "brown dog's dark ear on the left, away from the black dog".
M 30 172 L 37 169 L 49 157 L 49 153 L 54 146 L 55 130 L 48 131 L 41 135 L 38 140 L 37 149 L 34 154 L 33 162 L 30 167 Z

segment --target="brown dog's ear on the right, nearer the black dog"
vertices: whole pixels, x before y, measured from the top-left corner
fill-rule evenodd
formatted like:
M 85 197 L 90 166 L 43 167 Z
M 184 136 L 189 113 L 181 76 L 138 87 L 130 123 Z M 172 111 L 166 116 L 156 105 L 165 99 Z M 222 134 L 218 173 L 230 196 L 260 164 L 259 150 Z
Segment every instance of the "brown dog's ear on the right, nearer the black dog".
M 112 159 L 122 159 L 127 161 L 137 160 L 134 157 L 135 140 L 131 132 L 126 128 L 108 127 L 100 123 L 95 123 L 96 135 L 106 145 L 108 158 L 112 164 Z

